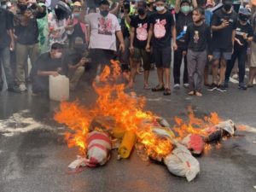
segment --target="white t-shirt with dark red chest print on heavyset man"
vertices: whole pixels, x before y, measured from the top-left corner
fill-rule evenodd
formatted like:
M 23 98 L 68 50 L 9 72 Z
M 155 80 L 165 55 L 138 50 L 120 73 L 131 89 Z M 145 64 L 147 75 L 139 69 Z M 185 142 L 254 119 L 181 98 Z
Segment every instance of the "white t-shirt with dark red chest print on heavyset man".
M 119 21 L 113 14 L 103 17 L 99 13 L 85 16 L 85 21 L 90 26 L 90 49 L 116 50 L 115 32 L 121 31 Z

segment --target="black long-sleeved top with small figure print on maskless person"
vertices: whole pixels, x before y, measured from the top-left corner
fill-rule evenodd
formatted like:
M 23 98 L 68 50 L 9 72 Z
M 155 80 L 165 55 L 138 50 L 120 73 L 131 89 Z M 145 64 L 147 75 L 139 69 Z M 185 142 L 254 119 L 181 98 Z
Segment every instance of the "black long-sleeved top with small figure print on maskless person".
M 201 26 L 195 26 L 194 23 L 190 23 L 185 36 L 185 42 L 188 45 L 188 49 L 197 52 L 208 49 L 209 54 L 212 54 L 211 30 L 205 23 Z

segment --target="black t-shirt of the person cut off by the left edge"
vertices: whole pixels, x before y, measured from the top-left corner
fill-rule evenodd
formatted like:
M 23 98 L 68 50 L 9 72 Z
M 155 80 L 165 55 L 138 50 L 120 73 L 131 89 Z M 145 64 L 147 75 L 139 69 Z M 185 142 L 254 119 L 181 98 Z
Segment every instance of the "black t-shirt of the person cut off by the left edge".
M 0 49 L 9 46 L 10 38 L 7 33 L 9 29 L 12 29 L 12 18 L 6 9 L 0 8 Z

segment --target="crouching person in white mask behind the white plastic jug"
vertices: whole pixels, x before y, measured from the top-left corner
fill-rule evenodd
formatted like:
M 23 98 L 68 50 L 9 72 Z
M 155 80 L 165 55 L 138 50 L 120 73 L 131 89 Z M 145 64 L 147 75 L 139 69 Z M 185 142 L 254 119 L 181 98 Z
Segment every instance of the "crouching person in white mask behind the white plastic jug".
M 49 94 L 49 76 L 54 77 L 63 73 L 61 62 L 63 45 L 54 43 L 49 52 L 38 57 L 35 65 L 32 66 L 32 96 L 48 96 Z

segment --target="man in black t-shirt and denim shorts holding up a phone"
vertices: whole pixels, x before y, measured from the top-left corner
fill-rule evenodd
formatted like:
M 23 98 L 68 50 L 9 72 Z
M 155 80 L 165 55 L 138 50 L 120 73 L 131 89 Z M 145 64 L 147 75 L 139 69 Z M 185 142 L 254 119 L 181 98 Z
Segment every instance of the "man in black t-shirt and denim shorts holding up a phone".
M 227 91 L 224 88 L 224 75 L 226 72 L 226 62 L 231 59 L 233 52 L 237 15 L 232 9 L 232 0 L 223 0 L 223 8 L 212 15 L 212 85 L 208 90 Z M 218 79 L 218 66 L 219 79 Z

